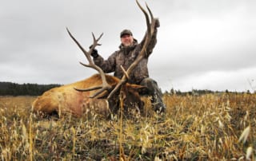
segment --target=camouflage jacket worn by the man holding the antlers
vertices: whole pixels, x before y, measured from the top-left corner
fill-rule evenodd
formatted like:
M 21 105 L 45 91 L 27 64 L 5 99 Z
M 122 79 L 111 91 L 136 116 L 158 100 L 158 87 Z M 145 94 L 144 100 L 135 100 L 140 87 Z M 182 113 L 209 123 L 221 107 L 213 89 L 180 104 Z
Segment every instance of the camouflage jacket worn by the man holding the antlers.
M 147 57 L 144 57 L 142 61 L 138 63 L 138 65 L 134 68 L 134 70 L 130 73 L 130 80 L 128 81 L 131 84 L 139 84 L 144 78 L 149 77 L 149 72 L 147 68 L 148 57 L 152 53 L 154 46 L 157 43 L 157 29 L 155 29 L 154 35 L 146 49 Z M 114 77 L 122 78 L 123 72 L 121 69 L 121 65 L 124 69 L 128 69 L 129 66 L 134 62 L 138 53 L 142 49 L 142 45 L 144 44 L 145 39 L 142 40 L 141 43 L 138 44 L 138 41 L 134 39 L 133 45 L 129 47 L 125 47 L 122 44 L 119 45 L 119 50 L 115 51 L 108 57 L 107 60 L 104 60 L 100 55 L 94 58 L 94 63 L 102 68 L 104 73 L 112 73 L 114 72 Z

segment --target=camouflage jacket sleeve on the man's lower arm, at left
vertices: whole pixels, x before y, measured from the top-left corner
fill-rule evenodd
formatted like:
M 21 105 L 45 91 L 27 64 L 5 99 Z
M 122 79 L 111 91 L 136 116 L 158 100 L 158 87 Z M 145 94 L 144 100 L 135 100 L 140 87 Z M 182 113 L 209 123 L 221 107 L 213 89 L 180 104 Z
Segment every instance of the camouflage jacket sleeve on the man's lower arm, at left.
M 98 57 L 94 58 L 95 65 L 98 65 L 104 73 L 111 73 L 115 71 L 117 52 L 113 53 L 108 57 L 107 60 L 104 60 L 102 56 L 98 55 Z

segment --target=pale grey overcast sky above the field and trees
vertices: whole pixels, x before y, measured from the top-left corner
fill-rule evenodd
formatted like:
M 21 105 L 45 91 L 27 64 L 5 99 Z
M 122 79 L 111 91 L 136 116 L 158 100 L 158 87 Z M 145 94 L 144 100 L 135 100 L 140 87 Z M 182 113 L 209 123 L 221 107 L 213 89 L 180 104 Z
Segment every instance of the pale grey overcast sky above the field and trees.
M 0 81 L 69 84 L 96 73 L 66 33 L 86 49 L 104 33 L 107 58 L 130 29 L 141 41 L 144 15 L 135 0 L 0 0 Z M 147 0 L 161 23 L 150 77 L 170 88 L 256 90 L 256 1 Z

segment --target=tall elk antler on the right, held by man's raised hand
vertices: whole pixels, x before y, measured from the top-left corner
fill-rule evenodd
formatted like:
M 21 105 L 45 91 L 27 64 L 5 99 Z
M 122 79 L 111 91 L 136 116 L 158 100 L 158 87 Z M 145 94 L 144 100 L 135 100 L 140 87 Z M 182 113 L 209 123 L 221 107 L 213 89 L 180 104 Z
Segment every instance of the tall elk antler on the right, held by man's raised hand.
M 122 69 L 124 72 L 124 75 L 122 76 L 121 81 L 119 81 L 119 83 L 115 86 L 115 88 L 110 92 L 110 95 L 107 97 L 107 99 L 110 99 L 110 97 L 113 96 L 114 93 L 117 92 L 119 88 L 121 88 L 122 84 L 125 84 L 127 82 L 127 79 L 129 79 L 130 73 L 134 70 L 136 65 L 138 65 L 139 61 L 142 61 L 142 59 L 144 57 L 146 57 L 146 54 L 147 54 L 146 49 L 147 49 L 148 45 L 150 44 L 150 40 L 151 40 L 154 30 L 155 30 L 154 26 L 155 26 L 156 18 L 154 18 L 150 8 L 146 4 L 146 8 L 147 8 L 148 12 L 150 13 L 150 17 L 149 17 L 146 10 L 144 10 L 142 8 L 142 6 L 138 3 L 138 0 L 136 0 L 136 2 L 137 2 L 138 7 L 140 8 L 140 10 L 142 10 L 142 12 L 146 18 L 147 30 L 146 30 L 146 35 L 143 37 L 144 44 L 142 45 L 142 49 L 141 49 L 140 53 L 138 53 L 138 57 L 135 59 L 133 64 L 131 64 L 130 67 L 126 71 L 124 69 Z

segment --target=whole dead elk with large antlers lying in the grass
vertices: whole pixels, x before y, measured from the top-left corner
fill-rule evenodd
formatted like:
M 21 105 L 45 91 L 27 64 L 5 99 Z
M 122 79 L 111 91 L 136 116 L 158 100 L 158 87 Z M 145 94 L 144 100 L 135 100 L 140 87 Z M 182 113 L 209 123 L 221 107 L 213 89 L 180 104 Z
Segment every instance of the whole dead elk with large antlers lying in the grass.
M 143 57 L 147 57 L 146 49 L 154 33 L 156 18 L 153 17 L 148 6 L 146 7 L 150 16 L 146 13 L 146 10 L 140 6 L 138 1 L 136 2 L 140 10 L 142 10 L 145 15 L 147 30 L 142 39 L 142 49 L 140 53 L 138 53 L 137 58 L 128 69 L 122 68 L 124 73 L 122 79 L 119 80 L 116 77 L 106 75 L 100 67 L 94 64 L 94 61 L 92 61 L 90 57 L 94 48 L 97 45 L 100 45 L 98 44 L 98 41 L 102 37 L 102 34 L 98 39 L 96 39 L 93 33 L 94 43 L 87 52 L 86 49 L 83 49 L 82 45 L 80 45 L 70 33 L 69 29 L 67 29 L 70 37 L 82 50 L 86 59 L 89 61 L 88 65 L 83 64 L 82 62 L 80 62 L 80 64 L 97 70 L 99 74 L 84 81 L 78 81 L 74 84 L 67 84 L 59 88 L 50 89 L 42 96 L 39 96 L 38 99 L 34 100 L 32 108 L 35 112 L 42 112 L 46 114 L 58 112 L 58 115 L 69 112 L 75 116 L 83 116 L 88 112 L 93 112 L 103 116 L 108 116 L 111 112 L 117 112 L 119 108 L 119 95 L 121 96 L 125 109 L 135 108 L 142 112 L 143 102 L 140 99 L 137 90 L 145 90 L 145 88 L 136 84 L 128 84 L 126 82 L 129 80 L 131 71 L 136 67 L 136 65 L 138 65 L 139 61 L 142 61 Z

